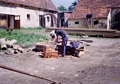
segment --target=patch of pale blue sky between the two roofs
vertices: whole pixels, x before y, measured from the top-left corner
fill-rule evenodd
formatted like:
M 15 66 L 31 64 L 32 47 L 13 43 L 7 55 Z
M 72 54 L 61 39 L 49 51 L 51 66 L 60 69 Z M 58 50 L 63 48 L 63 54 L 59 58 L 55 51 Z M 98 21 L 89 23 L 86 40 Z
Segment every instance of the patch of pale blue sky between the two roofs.
M 63 5 L 65 8 L 68 8 L 72 2 L 75 0 L 52 0 L 53 4 L 56 7 L 59 7 L 60 5 Z

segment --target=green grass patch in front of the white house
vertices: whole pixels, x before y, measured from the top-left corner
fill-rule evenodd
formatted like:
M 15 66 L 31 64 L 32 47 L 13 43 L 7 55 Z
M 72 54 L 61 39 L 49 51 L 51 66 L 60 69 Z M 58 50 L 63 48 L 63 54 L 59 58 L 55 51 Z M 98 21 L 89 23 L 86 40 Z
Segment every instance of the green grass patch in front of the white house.
M 21 28 L 20 30 L 13 30 L 13 31 L 6 31 L 5 29 L 1 29 L 0 28 L 0 38 L 6 38 L 7 40 L 12 40 L 12 39 L 16 39 L 17 40 L 17 44 L 23 44 L 25 46 L 32 46 L 37 42 L 45 42 L 48 41 L 48 38 L 46 36 L 43 36 L 41 34 L 35 34 L 35 33 L 26 33 L 26 32 L 21 32 L 22 31 L 38 31 L 38 30 L 42 30 L 39 28 L 29 28 L 29 29 L 25 29 L 25 28 Z

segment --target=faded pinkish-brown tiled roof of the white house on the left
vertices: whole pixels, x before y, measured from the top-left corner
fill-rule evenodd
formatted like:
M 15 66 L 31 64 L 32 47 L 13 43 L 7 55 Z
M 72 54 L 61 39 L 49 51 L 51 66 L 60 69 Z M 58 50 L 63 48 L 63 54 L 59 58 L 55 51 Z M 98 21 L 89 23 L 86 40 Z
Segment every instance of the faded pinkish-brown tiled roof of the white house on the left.
M 51 0 L 0 0 L 0 2 L 20 4 L 35 8 L 57 11 L 57 8 L 55 7 Z

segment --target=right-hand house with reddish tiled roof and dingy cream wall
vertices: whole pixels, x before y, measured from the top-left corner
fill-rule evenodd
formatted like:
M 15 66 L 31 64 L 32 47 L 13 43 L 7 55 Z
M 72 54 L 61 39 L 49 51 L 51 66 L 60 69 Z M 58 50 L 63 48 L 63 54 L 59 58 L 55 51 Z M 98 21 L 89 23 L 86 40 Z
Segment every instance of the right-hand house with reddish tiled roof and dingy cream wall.
M 120 30 L 120 0 L 80 0 L 68 27 Z

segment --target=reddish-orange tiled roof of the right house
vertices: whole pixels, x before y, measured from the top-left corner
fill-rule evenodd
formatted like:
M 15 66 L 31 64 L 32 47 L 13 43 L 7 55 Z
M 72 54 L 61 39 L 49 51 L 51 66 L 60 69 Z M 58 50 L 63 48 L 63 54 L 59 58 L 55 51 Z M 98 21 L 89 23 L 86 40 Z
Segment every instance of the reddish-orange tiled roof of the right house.
M 80 0 L 69 19 L 86 18 L 92 14 L 93 18 L 107 18 L 111 7 L 120 7 L 120 0 Z

